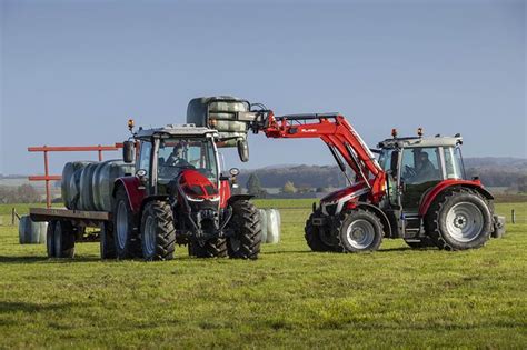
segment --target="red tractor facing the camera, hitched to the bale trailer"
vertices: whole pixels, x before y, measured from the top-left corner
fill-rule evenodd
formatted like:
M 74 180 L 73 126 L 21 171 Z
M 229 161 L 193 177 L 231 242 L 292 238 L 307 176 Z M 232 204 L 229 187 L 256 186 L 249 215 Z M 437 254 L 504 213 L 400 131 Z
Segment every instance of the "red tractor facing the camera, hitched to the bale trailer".
M 101 232 L 105 258 L 168 260 L 176 243 L 202 258 L 258 257 L 258 211 L 251 196 L 231 196 L 238 169 L 221 174 L 217 137 L 183 124 L 139 129 L 125 142 L 125 161 L 137 154 L 136 174 L 116 182 L 113 219 Z

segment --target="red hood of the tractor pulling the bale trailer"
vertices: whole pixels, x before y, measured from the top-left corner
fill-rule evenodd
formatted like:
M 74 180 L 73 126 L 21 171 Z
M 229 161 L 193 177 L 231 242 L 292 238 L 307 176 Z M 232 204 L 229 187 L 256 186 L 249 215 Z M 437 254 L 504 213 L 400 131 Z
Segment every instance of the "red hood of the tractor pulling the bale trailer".
M 180 172 L 178 184 L 191 201 L 218 201 L 218 187 L 197 170 L 186 169 Z

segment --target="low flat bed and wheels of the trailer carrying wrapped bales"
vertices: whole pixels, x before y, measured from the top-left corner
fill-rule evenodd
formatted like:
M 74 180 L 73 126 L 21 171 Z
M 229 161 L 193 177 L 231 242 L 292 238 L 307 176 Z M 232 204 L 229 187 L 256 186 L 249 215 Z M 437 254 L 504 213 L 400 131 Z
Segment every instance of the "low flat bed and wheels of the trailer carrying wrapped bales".
M 72 258 L 76 242 L 101 241 L 101 252 L 110 248 L 103 247 L 101 236 L 111 232 L 111 212 L 30 208 L 29 217 L 36 222 L 48 222 L 46 244 L 49 258 Z M 87 232 L 86 228 L 99 231 Z

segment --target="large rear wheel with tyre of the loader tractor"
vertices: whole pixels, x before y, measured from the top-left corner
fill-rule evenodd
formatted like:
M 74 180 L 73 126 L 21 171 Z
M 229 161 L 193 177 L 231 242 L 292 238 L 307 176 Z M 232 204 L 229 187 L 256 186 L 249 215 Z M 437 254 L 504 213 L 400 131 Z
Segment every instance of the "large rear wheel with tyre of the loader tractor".
M 425 223 L 430 239 L 445 250 L 483 247 L 493 231 L 488 202 L 468 189 L 440 194 L 428 210 Z

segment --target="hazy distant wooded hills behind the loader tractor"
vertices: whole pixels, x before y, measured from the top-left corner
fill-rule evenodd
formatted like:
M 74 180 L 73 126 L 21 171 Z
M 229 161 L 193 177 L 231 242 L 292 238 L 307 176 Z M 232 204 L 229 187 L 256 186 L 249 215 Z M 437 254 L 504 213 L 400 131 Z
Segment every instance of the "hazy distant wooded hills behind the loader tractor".
M 527 178 L 527 159 L 521 158 L 466 158 L 467 177 L 478 176 L 488 187 L 515 187 Z M 346 184 L 337 166 L 274 166 L 241 171 L 239 183 L 245 186 L 251 173 L 258 174 L 261 186 L 279 188 L 287 181 L 296 187 L 338 188 Z

